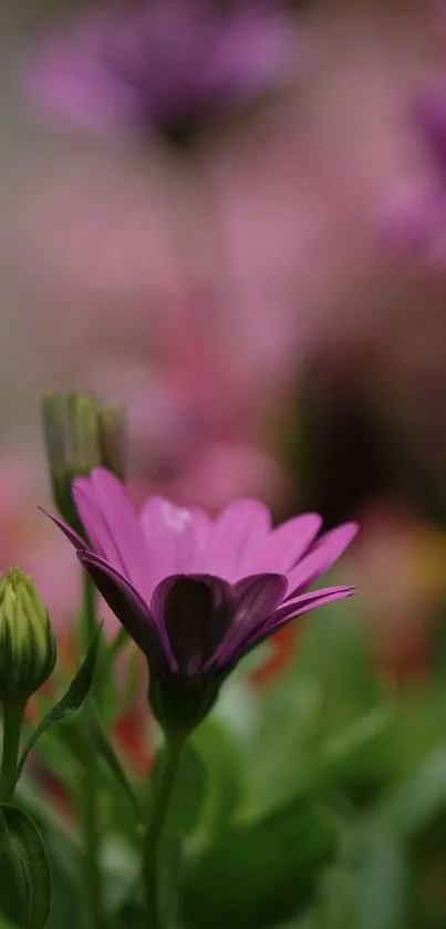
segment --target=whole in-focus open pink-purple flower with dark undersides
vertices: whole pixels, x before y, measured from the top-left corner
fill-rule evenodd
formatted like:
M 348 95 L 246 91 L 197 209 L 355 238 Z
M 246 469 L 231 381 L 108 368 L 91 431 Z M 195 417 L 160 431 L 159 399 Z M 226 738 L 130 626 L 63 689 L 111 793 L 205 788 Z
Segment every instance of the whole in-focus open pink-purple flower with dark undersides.
M 159 497 L 138 517 L 104 468 L 77 478 L 73 497 L 92 547 L 55 522 L 145 653 L 152 706 L 165 729 L 196 725 L 247 652 L 295 617 L 353 592 L 307 591 L 344 551 L 355 524 L 318 537 L 315 514 L 272 529 L 267 507 L 255 500 L 231 504 L 214 522 Z

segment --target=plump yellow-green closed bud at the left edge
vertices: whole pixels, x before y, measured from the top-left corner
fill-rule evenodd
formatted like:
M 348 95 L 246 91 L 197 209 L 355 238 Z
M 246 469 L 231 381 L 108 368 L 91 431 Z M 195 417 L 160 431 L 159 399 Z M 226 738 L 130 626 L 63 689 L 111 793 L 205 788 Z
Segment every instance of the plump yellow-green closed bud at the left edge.
M 56 646 L 48 610 L 30 577 L 0 577 L 0 700 L 25 702 L 54 670 Z

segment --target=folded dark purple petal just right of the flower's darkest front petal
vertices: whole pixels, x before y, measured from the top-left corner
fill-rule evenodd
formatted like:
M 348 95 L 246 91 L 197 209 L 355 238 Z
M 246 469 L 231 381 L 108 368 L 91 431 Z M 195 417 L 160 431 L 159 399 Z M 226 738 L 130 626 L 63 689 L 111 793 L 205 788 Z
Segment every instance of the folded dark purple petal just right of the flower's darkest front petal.
M 252 575 L 239 580 L 234 587 L 237 608 L 230 629 L 218 650 L 219 663 L 237 651 L 239 643 L 252 636 L 259 626 L 282 602 L 287 592 L 283 575 Z

